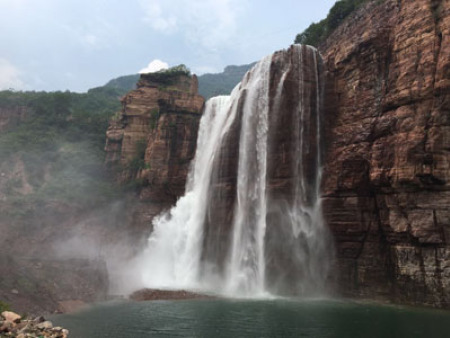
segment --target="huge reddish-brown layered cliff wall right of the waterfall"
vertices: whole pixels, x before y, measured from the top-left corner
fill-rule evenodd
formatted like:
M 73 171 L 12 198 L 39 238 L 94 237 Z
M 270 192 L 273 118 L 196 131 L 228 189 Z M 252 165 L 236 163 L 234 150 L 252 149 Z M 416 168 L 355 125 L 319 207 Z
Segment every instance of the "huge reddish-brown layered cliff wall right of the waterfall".
M 450 1 L 373 1 L 321 46 L 340 289 L 450 306 Z

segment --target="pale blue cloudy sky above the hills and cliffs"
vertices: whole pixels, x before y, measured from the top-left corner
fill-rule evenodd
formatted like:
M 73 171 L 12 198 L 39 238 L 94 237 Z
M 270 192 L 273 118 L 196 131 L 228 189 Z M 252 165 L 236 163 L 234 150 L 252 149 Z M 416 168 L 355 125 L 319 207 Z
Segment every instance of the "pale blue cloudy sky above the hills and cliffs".
M 221 72 L 288 47 L 334 2 L 0 0 L 0 89 L 86 91 L 154 60 Z

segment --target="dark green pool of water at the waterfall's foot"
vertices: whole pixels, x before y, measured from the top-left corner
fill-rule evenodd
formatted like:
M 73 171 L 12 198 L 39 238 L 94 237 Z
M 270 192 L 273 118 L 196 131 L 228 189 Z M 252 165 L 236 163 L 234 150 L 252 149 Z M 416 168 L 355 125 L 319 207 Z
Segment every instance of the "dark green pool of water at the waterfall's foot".
M 70 338 L 450 337 L 450 312 L 339 301 L 116 302 L 51 320 Z

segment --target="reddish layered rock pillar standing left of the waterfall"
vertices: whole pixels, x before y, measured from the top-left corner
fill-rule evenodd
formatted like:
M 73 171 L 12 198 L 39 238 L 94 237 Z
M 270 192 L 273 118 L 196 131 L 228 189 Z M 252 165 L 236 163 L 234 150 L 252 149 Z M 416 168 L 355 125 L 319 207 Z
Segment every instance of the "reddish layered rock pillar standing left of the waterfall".
M 204 99 L 195 75 L 143 74 L 137 87 L 108 128 L 106 162 L 121 166 L 122 182 L 142 185 L 139 231 L 184 192 Z

